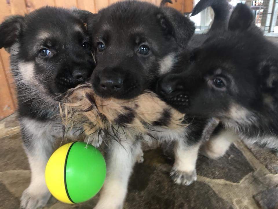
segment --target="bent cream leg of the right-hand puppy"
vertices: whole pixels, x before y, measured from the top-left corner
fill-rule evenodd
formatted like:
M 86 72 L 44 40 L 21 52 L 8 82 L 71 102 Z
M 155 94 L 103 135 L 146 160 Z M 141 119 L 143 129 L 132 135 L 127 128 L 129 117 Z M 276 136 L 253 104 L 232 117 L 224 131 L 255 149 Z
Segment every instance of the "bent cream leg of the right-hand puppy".
M 212 136 L 209 141 L 207 141 L 202 149 L 202 155 L 211 158 L 217 159 L 222 157 L 230 145 L 239 138 L 239 136 L 232 130 L 222 129 L 218 134 Z

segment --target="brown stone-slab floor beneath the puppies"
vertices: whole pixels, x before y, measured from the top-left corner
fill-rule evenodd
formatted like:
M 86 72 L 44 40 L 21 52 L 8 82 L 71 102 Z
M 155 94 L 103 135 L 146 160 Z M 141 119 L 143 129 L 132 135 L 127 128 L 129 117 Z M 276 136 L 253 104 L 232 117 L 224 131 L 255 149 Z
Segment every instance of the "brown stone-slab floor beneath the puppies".
M 30 170 L 14 115 L 0 122 L 0 141 L 0 208 L 19 208 Z M 278 158 L 266 150 L 238 141 L 219 160 L 199 156 L 197 181 L 189 186 L 171 181 L 173 161 L 160 149 L 145 151 L 144 158 L 131 176 L 125 209 L 278 208 Z M 97 198 L 67 205 L 52 197 L 45 208 L 93 208 Z

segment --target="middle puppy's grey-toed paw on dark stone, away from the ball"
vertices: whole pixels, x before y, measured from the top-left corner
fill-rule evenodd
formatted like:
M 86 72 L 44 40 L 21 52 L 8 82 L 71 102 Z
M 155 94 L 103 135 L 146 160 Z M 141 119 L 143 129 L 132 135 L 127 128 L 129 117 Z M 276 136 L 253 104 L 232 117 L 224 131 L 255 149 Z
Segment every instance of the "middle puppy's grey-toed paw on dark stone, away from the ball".
M 173 167 L 170 172 L 170 176 L 176 184 L 180 184 L 180 185 L 189 185 L 193 183 L 193 181 L 197 180 L 196 170 L 193 170 L 191 172 L 186 172 L 186 171 L 176 170 Z

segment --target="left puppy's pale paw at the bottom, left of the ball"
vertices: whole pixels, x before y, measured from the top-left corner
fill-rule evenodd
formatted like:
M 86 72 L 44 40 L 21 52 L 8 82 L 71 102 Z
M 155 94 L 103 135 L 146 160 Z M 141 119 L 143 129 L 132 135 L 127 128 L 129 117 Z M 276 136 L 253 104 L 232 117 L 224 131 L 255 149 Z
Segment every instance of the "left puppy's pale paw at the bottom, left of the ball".
M 51 194 L 50 192 L 45 192 L 43 194 L 36 193 L 38 191 L 29 191 L 29 188 L 27 188 L 21 196 L 20 200 L 20 208 L 21 209 L 37 209 L 37 208 L 43 208 L 48 199 L 50 198 Z

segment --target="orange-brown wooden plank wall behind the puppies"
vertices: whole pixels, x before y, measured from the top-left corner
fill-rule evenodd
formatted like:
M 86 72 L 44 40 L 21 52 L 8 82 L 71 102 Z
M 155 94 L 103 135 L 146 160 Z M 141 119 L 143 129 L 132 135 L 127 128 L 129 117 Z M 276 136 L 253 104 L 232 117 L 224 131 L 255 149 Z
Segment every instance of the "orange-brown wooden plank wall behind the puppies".
M 0 22 L 9 15 L 24 15 L 42 6 L 77 7 L 96 13 L 119 0 L 0 0 Z M 160 4 L 160 0 L 145 0 L 155 5 Z M 191 12 L 193 0 L 172 0 L 174 8 L 180 12 Z M 1 31 L 0 31 L 1 33 Z M 0 120 L 16 111 L 16 93 L 14 91 L 13 80 L 10 74 L 9 54 L 0 49 Z

